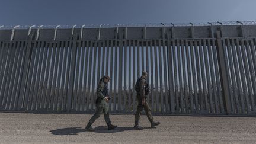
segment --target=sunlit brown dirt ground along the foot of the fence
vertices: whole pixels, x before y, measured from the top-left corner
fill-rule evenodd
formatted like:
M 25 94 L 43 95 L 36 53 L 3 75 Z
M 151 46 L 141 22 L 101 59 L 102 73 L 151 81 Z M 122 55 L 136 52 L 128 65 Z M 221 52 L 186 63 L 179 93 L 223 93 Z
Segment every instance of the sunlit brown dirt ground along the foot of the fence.
M 161 124 L 133 130 L 134 116 L 111 115 L 116 130 L 107 130 L 101 115 L 85 131 L 91 114 L 0 112 L 0 143 L 256 143 L 256 117 L 154 116 Z

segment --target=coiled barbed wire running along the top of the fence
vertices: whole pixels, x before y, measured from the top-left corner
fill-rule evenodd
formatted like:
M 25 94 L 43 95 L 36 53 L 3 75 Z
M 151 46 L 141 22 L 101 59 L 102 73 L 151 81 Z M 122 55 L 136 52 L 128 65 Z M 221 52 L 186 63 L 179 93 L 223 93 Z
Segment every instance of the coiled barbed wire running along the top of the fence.
M 225 22 L 207 22 L 207 23 L 130 23 L 130 24 L 84 24 L 84 25 L 0 25 L 0 30 L 13 29 L 37 29 L 38 27 L 42 29 L 52 29 L 52 28 L 116 28 L 116 27 L 190 27 L 190 26 L 210 26 L 210 25 L 256 25 L 256 21 L 225 21 Z

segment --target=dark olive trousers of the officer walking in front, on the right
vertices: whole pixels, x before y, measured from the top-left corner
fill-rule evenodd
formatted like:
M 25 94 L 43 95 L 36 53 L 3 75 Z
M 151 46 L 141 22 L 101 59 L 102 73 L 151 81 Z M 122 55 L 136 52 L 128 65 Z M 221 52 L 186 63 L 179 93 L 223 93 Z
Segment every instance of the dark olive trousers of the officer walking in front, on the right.
M 143 110 L 145 110 L 148 120 L 153 121 L 153 117 L 151 114 L 151 108 L 149 107 L 148 102 L 146 101 L 146 103 L 144 105 L 142 105 L 142 99 L 140 98 L 140 95 L 137 95 L 137 101 L 138 101 L 138 105 L 137 105 L 137 110 L 135 113 L 135 121 L 139 121 L 140 115 L 142 114 Z

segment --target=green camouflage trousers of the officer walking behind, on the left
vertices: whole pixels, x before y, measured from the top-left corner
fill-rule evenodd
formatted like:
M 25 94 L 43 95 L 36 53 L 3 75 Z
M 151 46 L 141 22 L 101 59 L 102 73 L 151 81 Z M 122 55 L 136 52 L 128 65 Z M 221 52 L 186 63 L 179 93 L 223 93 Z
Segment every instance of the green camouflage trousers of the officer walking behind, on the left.
M 105 100 L 101 100 L 100 103 L 97 103 L 95 113 L 89 120 L 89 123 L 94 123 L 94 121 L 100 117 L 101 113 L 104 113 L 105 122 L 110 123 L 108 108 L 109 105 L 107 102 L 105 102 Z

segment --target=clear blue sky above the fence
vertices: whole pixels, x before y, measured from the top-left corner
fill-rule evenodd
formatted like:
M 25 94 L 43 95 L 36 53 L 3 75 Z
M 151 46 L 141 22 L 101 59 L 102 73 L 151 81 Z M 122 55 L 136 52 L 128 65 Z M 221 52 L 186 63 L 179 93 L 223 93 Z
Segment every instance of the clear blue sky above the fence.
M 0 25 L 256 20 L 255 0 L 0 0 Z

